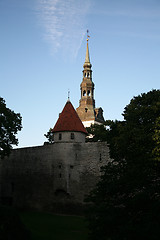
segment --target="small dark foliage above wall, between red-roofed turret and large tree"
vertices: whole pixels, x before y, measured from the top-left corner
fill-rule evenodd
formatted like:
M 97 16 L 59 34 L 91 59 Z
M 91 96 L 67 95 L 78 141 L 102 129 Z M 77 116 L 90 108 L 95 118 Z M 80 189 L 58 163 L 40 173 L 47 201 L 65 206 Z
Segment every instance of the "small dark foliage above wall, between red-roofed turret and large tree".
M 92 124 L 86 128 L 88 136 L 87 142 L 105 142 L 107 140 L 107 130 L 105 125 Z

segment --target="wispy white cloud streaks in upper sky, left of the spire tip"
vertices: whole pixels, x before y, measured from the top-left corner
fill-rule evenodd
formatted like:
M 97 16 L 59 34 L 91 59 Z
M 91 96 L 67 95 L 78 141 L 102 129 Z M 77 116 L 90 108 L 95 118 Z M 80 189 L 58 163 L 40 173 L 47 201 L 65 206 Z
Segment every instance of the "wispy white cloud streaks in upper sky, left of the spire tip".
M 52 54 L 62 50 L 76 57 L 86 32 L 89 7 L 90 0 L 37 0 L 40 24 Z

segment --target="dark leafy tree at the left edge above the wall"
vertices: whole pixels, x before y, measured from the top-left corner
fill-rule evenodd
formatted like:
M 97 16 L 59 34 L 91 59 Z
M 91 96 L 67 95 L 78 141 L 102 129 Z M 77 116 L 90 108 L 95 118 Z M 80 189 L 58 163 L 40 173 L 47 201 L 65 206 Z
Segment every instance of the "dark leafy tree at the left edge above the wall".
M 22 128 L 22 118 L 6 107 L 5 100 L 0 98 L 0 156 L 9 155 L 12 145 L 18 145 L 16 134 Z

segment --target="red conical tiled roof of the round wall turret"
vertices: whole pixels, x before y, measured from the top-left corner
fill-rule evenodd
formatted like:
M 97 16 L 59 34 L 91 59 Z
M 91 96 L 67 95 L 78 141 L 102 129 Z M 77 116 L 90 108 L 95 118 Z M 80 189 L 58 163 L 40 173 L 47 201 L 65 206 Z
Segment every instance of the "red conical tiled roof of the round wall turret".
M 53 132 L 83 132 L 87 134 L 83 123 L 81 122 L 77 112 L 75 111 L 72 103 L 67 101 L 60 113 L 59 118 L 52 130 Z

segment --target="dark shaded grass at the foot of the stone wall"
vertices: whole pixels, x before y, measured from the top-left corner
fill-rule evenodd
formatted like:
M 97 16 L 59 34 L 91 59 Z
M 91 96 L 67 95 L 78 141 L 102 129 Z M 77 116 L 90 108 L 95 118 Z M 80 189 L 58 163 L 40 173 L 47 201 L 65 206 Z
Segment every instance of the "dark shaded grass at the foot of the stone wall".
M 20 217 L 32 240 L 87 240 L 84 217 L 22 212 Z

